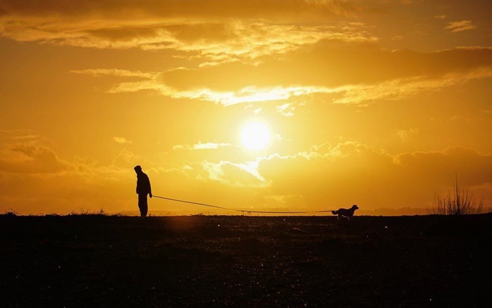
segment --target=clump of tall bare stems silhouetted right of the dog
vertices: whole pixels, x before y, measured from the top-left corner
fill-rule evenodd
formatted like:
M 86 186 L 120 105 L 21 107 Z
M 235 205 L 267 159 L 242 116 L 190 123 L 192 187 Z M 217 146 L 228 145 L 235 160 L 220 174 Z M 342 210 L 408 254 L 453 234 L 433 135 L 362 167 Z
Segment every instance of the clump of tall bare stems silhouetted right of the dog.
M 458 176 L 455 174 L 453 192 L 448 190 L 447 196 L 434 193 L 432 207 L 427 207 L 427 214 L 433 215 L 462 215 L 480 214 L 484 206 L 484 200 L 476 201 L 473 192 L 461 189 L 458 185 Z

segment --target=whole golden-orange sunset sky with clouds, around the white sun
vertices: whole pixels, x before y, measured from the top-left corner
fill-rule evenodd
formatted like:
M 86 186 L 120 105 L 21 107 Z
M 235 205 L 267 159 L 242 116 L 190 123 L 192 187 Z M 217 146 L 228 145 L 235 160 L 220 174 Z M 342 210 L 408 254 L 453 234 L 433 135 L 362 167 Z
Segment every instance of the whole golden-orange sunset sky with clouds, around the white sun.
M 374 214 L 422 212 L 456 171 L 489 206 L 491 11 L 0 0 L 0 211 L 137 210 L 135 165 L 160 196 Z M 249 123 L 267 128 L 266 147 L 245 146 Z

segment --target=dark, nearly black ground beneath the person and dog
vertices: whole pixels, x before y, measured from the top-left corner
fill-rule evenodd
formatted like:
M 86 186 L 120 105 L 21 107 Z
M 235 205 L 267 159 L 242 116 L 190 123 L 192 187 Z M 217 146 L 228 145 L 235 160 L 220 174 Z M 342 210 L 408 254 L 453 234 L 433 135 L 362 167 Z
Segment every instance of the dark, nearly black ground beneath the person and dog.
M 491 307 L 492 215 L 0 215 L 1 307 Z

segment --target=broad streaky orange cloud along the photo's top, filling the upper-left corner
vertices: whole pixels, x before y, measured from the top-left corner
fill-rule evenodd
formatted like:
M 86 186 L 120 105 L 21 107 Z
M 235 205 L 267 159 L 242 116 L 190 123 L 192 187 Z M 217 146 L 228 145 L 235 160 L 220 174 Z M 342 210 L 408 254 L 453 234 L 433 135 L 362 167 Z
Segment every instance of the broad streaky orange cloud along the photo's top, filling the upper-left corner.
M 345 0 L 290 0 L 289 5 L 275 0 L 2 1 L 0 33 L 57 45 L 194 52 L 211 58 L 206 66 L 215 65 L 217 57 L 226 56 L 219 62 L 255 58 L 323 39 L 375 41 L 361 23 L 326 23 L 327 16 L 348 16 L 359 6 Z

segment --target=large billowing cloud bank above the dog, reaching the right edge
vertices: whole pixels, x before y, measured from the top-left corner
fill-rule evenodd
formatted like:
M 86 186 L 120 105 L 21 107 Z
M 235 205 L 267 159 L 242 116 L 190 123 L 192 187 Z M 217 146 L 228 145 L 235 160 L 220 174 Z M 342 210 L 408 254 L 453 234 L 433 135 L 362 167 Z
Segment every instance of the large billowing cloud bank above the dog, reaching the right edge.
M 273 156 L 260 163 L 259 173 L 271 180 L 272 193 L 301 194 L 312 205 L 322 205 L 326 200 L 334 204 L 371 203 L 374 207 L 425 207 L 434 191 L 450 186 L 453 171 L 458 172 L 465 187 L 492 182 L 492 156 L 473 149 L 452 147 L 441 152 L 393 156 L 358 142 L 325 147 L 325 154 L 318 149 L 301 155 Z M 382 187 L 392 193 L 377 196 Z M 400 192 L 398 196 L 393 193 L 396 191 Z

